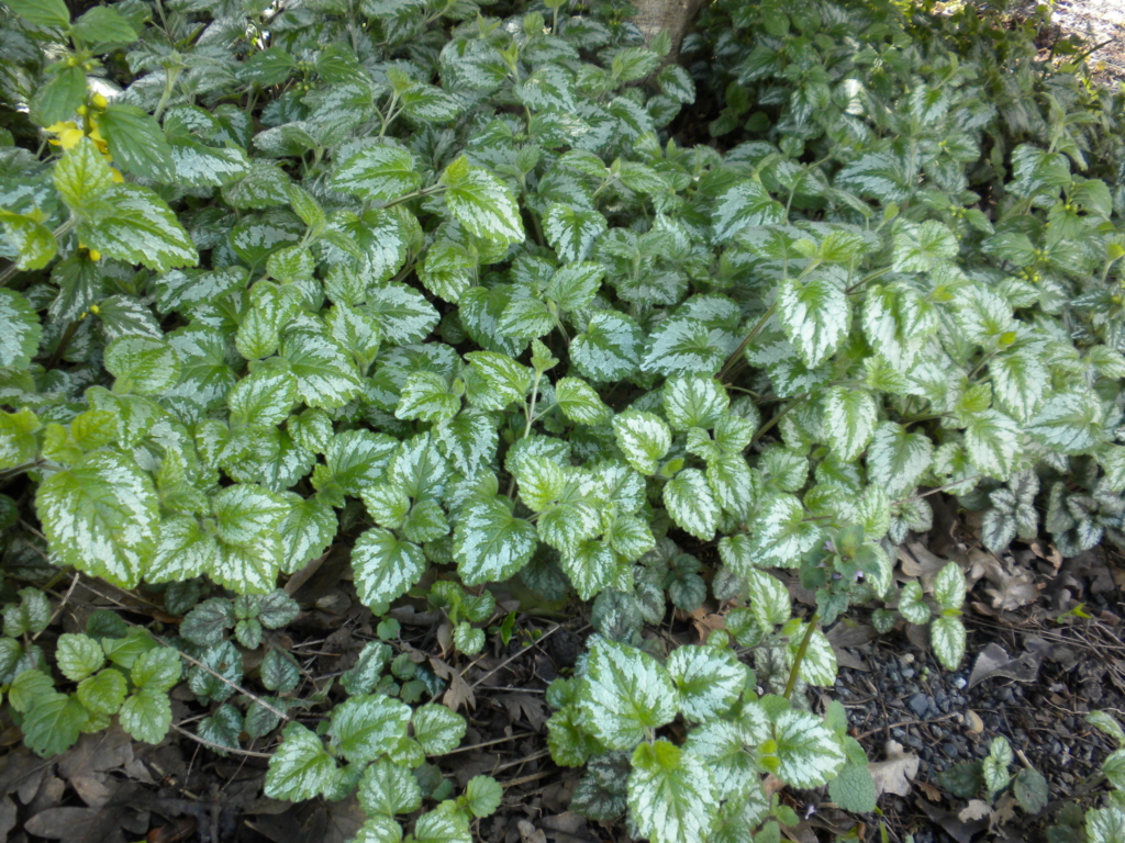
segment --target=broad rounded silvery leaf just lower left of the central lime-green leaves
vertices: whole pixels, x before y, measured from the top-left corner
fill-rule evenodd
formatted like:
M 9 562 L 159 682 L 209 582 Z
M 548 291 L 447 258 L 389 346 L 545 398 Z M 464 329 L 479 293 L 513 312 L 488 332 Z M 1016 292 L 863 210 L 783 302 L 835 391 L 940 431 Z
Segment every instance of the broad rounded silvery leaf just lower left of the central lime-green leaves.
M 528 562 L 536 550 L 534 526 L 512 515 L 505 499 L 474 501 L 453 531 L 453 559 L 466 586 L 503 582 Z

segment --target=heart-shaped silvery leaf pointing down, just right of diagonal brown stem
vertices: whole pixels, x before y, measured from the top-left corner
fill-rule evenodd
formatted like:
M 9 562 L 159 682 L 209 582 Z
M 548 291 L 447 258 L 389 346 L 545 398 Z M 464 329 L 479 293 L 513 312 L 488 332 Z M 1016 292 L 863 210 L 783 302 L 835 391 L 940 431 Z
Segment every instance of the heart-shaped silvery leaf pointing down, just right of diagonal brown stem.
M 807 283 L 783 280 L 777 290 L 777 315 L 785 335 L 810 368 L 831 356 L 850 321 L 844 290 L 827 278 Z

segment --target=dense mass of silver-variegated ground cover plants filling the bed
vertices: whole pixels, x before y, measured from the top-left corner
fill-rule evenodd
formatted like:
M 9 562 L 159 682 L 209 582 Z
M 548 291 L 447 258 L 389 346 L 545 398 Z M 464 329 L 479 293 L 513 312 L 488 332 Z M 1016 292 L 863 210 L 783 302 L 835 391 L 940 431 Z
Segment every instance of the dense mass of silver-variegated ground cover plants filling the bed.
M 844 707 L 812 709 L 825 628 L 862 609 L 964 659 L 961 568 L 894 575 L 932 496 L 993 551 L 1125 543 L 1120 96 L 971 8 L 718 2 L 686 67 L 631 12 L 8 0 L 0 688 L 28 747 L 159 743 L 186 688 L 212 751 L 268 747 L 267 796 L 469 841 L 503 790 L 442 777 L 459 677 L 388 613 L 432 608 L 467 663 L 569 600 L 572 809 L 780 840 L 767 776 L 876 808 Z M 379 632 L 314 689 L 267 633 L 333 552 Z M 166 620 L 58 634 L 79 577 Z M 651 634 L 705 602 L 704 643 Z M 1005 745 L 987 796 L 1042 809 Z M 1110 797 L 1074 834 L 1123 825 Z

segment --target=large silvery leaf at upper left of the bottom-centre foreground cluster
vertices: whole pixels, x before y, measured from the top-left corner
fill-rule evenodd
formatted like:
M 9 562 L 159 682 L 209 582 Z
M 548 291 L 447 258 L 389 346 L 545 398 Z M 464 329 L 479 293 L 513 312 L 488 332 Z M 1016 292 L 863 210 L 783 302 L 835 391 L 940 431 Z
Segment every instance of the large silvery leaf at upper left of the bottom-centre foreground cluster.
M 631 750 L 647 729 L 676 716 L 676 687 L 646 652 L 598 640 L 590 650 L 578 713 L 585 728 L 611 750 Z

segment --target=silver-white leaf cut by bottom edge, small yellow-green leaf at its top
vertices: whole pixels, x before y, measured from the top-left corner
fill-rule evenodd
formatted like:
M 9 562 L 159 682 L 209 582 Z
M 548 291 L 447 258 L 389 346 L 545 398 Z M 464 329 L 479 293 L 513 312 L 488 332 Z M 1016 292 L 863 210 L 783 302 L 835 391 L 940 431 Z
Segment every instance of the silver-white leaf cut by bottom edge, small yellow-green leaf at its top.
M 652 843 L 710 836 L 719 800 L 706 763 L 675 744 L 641 744 L 632 756 L 629 816 Z

